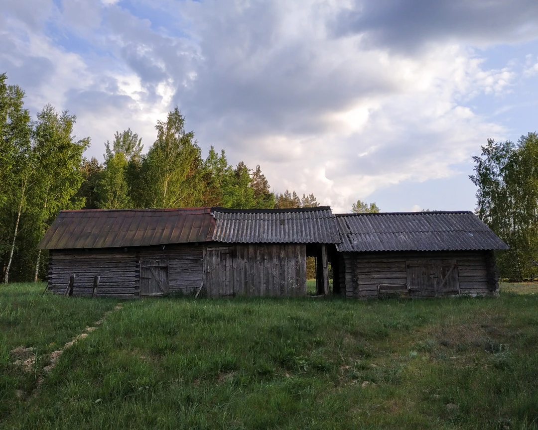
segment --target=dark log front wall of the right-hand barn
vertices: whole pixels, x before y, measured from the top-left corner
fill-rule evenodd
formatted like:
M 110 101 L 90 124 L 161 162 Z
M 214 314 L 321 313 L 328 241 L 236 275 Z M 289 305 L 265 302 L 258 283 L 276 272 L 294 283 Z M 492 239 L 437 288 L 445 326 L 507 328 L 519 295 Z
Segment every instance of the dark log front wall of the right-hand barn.
M 498 291 L 498 275 L 491 251 L 341 253 L 340 275 L 345 282 L 345 295 L 375 297 L 380 288 L 410 296 L 434 295 L 433 290 L 417 288 L 417 285 L 407 291 L 410 270 L 428 260 L 443 261 L 447 270 L 441 271 L 440 277 L 453 276 L 457 271 L 457 276 L 450 280 L 450 288 L 446 289 L 451 291 L 440 291 L 437 295 L 454 295 L 454 288 L 458 288 L 461 295 L 490 295 Z M 451 262 L 455 262 L 455 271 L 449 274 Z

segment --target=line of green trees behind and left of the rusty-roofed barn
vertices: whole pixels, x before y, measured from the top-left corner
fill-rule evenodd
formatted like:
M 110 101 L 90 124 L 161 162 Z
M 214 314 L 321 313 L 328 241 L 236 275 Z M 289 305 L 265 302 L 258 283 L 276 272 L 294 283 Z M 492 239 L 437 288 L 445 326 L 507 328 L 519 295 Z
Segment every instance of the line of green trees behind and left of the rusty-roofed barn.
M 155 126 L 142 154 L 137 133 L 116 132 L 104 162 L 86 159 L 90 138 L 73 134 L 76 116 L 47 104 L 36 118 L 24 91 L 0 75 L 0 268 L 2 281 L 44 277 L 48 255 L 36 249 L 60 210 L 225 206 L 318 206 L 313 194 L 271 191 L 260 166 L 232 166 L 224 149 L 207 157 L 176 107 Z

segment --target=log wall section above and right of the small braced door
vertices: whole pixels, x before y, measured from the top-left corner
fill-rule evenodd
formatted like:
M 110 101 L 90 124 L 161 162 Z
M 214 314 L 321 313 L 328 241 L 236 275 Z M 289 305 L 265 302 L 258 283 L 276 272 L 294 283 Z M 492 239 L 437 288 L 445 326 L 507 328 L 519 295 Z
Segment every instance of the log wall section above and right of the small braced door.
M 203 283 L 203 247 L 201 245 L 166 245 L 140 248 L 139 260 L 168 260 L 169 292 L 191 294 Z

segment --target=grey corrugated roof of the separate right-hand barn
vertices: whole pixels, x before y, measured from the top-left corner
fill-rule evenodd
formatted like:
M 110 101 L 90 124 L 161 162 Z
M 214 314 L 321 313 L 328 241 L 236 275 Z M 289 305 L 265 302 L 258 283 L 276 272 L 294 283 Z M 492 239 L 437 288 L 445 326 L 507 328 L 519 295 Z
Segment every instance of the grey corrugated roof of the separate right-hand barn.
M 469 211 L 336 214 L 338 251 L 508 249 Z

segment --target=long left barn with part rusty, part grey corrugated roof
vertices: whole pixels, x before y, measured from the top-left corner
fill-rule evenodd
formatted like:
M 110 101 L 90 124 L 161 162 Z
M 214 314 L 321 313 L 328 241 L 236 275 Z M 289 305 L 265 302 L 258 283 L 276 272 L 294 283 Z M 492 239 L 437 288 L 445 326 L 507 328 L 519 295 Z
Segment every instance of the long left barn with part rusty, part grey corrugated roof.
M 328 293 L 328 246 L 339 241 L 330 207 L 284 210 L 61 211 L 39 243 L 48 289 L 138 298 L 306 295 L 306 257 Z

